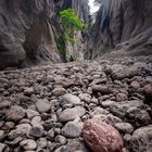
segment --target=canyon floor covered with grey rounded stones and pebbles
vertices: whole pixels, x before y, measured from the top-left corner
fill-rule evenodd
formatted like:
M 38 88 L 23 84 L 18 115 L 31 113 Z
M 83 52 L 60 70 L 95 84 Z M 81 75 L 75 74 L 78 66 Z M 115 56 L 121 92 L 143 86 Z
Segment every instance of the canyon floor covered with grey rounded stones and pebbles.
M 152 58 L 0 72 L 0 152 L 91 150 L 152 152 Z

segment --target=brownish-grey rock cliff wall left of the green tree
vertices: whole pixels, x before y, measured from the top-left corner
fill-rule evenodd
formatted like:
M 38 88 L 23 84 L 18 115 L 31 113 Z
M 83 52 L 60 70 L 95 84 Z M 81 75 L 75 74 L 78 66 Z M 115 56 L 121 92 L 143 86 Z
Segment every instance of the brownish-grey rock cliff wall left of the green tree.
M 63 33 L 59 11 L 67 8 L 87 21 L 87 0 L 1 0 L 0 68 L 66 61 L 56 41 Z

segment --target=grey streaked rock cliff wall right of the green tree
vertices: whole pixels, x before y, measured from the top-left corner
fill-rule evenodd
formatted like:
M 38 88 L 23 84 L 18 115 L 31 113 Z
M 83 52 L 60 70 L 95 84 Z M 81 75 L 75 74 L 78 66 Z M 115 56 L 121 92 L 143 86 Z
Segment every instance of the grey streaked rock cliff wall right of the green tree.
M 152 1 L 101 0 L 87 58 L 152 54 Z

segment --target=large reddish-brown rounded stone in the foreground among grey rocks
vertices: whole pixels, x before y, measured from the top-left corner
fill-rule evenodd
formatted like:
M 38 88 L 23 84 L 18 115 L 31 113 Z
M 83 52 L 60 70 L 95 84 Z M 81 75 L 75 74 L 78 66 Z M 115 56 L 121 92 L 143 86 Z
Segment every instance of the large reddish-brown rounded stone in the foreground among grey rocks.
M 83 137 L 92 152 L 122 152 L 124 148 L 118 131 L 104 123 L 86 122 Z

